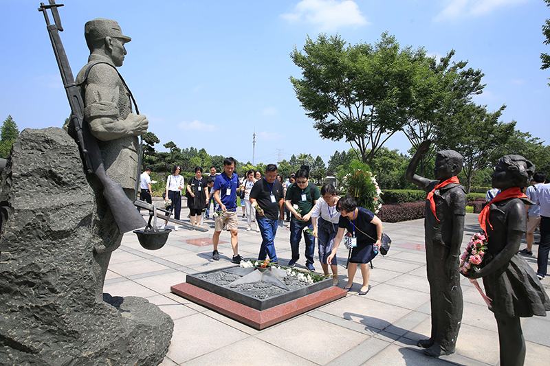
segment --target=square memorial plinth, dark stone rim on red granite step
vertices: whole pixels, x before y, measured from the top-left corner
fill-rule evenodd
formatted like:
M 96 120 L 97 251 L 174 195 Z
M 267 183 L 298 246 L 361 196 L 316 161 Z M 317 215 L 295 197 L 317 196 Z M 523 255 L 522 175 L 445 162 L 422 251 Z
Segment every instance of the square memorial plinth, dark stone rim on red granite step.
M 263 299 L 233 290 L 230 286 L 221 286 L 201 279 L 206 277 L 205 275 L 217 272 L 239 273 L 247 269 L 252 270 L 252 268 L 228 267 L 187 275 L 187 283 L 176 284 L 170 290 L 176 295 L 258 330 L 281 323 L 347 295 L 347 291 L 332 286 L 332 278 L 300 288 L 287 289 Z

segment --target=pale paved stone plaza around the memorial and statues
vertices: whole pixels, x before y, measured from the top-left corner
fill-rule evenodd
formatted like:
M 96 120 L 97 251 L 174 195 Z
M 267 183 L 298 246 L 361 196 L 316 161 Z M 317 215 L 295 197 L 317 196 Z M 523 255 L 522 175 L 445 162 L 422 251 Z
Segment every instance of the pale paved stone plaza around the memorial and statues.
M 186 215 L 184 210 L 181 217 Z M 423 220 L 384 223 L 384 230 L 393 240 L 392 249 L 386 257 L 379 255 L 373 261 L 373 287 L 368 295 L 358 296 L 358 271 L 347 297 L 261 331 L 170 293 L 170 286 L 185 282 L 187 273 L 231 264 L 227 232 L 221 234 L 225 243 L 220 244 L 219 262 L 211 259 L 212 245 L 186 242 L 212 238 L 213 221 L 208 220 L 203 227 L 209 229 L 208 233 L 172 231 L 166 245 L 158 251 L 142 249 L 136 236 L 127 233 L 111 258 L 104 292 L 145 297 L 174 319 L 174 335 L 164 366 L 498 365 L 496 321 L 467 279 L 461 283 L 464 315 L 456 353 L 427 358 L 415 345 L 430 334 Z M 256 259 L 260 233 L 245 229 L 245 219 L 239 218 L 239 253 Z M 477 215 L 467 214 L 464 246 L 478 229 Z M 278 228 L 275 244 L 278 258 L 285 264 L 291 257 L 287 227 Z M 347 279 L 347 251 L 342 247 L 338 251 L 340 287 Z M 298 266 L 305 264 L 303 249 L 302 244 Z M 533 252 L 537 249 L 535 246 Z M 536 268 L 534 256 L 527 260 Z M 314 265 L 321 270 L 318 262 Z M 543 284 L 549 292 L 550 277 Z M 523 318 L 522 327 L 527 343 L 525 365 L 547 365 L 550 317 Z

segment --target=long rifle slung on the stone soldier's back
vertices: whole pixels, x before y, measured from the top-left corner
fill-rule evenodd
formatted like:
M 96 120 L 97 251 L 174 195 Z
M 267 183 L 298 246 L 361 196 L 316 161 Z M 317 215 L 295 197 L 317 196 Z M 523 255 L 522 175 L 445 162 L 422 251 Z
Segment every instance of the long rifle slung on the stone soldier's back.
M 63 43 L 61 43 L 61 38 L 59 36 L 59 32 L 63 32 L 63 27 L 61 26 L 61 19 L 59 18 L 57 8 L 63 6 L 63 4 L 56 4 L 55 0 L 49 0 L 49 2 L 49 5 L 40 3 L 39 11 L 44 14 L 46 28 L 50 34 L 57 65 L 61 72 L 61 79 L 63 80 L 65 91 L 67 92 L 67 98 L 69 98 L 69 104 L 72 111 L 71 122 L 72 126 L 74 126 L 74 134 L 72 134 L 72 137 L 76 139 L 78 147 L 80 148 L 80 155 L 82 155 L 85 170 L 89 174 L 96 174 L 103 185 L 103 195 L 107 199 L 107 203 L 109 204 L 109 208 L 111 209 L 120 233 L 144 227 L 146 225 L 145 220 L 137 209 L 135 209 L 133 203 L 126 194 L 124 194 L 122 185 L 120 185 L 120 183 L 115 183 L 105 173 L 98 141 L 96 137 L 91 135 L 84 121 L 84 102 L 82 95 L 80 95 L 80 91 L 78 91 L 78 87 L 74 82 L 69 60 L 67 59 L 67 54 L 65 54 L 65 49 L 63 48 Z M 54 24 L 50 24 L 50 19 L 46 12 L 47 9 L 52 11 Z

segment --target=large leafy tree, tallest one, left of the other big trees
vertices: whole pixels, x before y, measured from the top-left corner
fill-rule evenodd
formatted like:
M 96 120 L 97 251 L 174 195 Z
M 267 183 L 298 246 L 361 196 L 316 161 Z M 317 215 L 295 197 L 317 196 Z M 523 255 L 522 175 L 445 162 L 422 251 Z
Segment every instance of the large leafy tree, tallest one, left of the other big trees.
M 406 124 L 427 67 L 423 49 L 401 49 L 387 32 L 374 45 L 320 34 L 290 56 L 303 76 L 290 81 L 320 136 L 345 139 L 364 163 Z

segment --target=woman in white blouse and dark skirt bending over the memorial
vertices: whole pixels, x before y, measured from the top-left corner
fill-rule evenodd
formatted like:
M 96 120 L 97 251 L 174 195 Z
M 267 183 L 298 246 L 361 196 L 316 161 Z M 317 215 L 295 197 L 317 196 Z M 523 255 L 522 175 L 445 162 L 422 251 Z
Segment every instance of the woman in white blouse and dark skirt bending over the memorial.
M 338 221 L 340 212 L 336 211 L 336 203 L 340 199 L 336 196 L 336 189 L 331 184 L 325 184 L 321 187 L 322 200 L 318 200 L 311 212 L 311 223 L 314 225 L 314 236 L 317 238 L 319 248 L 319 262 L 325 275 L 329 274 L 329 263 L 327 258 L 331 254 L 332 244 L 338 233 Z M 338 277 L 338 260 L 336 255 L 332 259 L 331 270 L 333 274 L 333 284 L 338 286 L 340 278 Z

